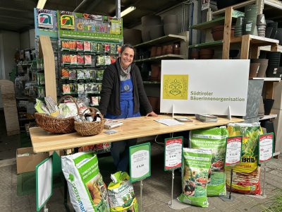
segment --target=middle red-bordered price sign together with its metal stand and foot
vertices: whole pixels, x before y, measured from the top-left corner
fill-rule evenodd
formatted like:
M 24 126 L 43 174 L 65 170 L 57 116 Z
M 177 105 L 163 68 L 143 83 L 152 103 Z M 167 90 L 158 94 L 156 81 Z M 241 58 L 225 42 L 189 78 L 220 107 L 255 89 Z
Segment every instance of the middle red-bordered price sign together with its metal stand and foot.
M 233 201 L 232 194 L 232 181 L 233 181 L 233 167 L 240 163 L 241 151 L 242 151 L 242 136 L 234 136 L 226 138 L 226 155 L 225 166 L 231 167 L 231 179 L 230 179 L 230 191 L 229 195 L 219 196 L 223 201 Z

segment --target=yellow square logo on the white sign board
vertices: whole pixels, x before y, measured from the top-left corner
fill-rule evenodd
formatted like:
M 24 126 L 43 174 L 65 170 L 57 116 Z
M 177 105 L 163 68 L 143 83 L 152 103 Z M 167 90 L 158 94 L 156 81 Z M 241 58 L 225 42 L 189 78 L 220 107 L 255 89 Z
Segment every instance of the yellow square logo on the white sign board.
M 170 100 L 188 100 L 189 75 L 164 75 L 163 98 Z

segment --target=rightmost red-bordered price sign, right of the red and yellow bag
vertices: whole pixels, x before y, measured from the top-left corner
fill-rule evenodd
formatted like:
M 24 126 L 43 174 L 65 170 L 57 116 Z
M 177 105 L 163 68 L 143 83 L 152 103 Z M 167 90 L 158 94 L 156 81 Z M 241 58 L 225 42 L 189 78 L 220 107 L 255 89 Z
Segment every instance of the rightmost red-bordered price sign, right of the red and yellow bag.
M 271 160 L 274 152 L 274 134 L 259 136 L 259 164 Z

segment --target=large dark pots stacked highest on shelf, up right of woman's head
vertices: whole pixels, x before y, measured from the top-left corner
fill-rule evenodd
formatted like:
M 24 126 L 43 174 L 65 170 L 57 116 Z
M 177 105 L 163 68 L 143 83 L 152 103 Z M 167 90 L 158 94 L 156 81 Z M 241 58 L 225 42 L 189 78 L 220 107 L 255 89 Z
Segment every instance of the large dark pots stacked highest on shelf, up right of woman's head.
M 164 26 L 161 23 L 161 16 L 143 16 L 141 22 L 143 42 L 154 40 L 164 35 Z

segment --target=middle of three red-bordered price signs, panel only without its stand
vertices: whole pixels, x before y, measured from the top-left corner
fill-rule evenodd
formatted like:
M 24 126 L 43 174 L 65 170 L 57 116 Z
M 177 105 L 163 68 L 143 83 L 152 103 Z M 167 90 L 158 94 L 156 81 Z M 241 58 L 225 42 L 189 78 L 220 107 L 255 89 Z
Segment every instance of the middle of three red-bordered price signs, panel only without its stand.
M 242 136 L 226 138 L 225 166 L 233 166 L 240 163 L 242 140 Z

